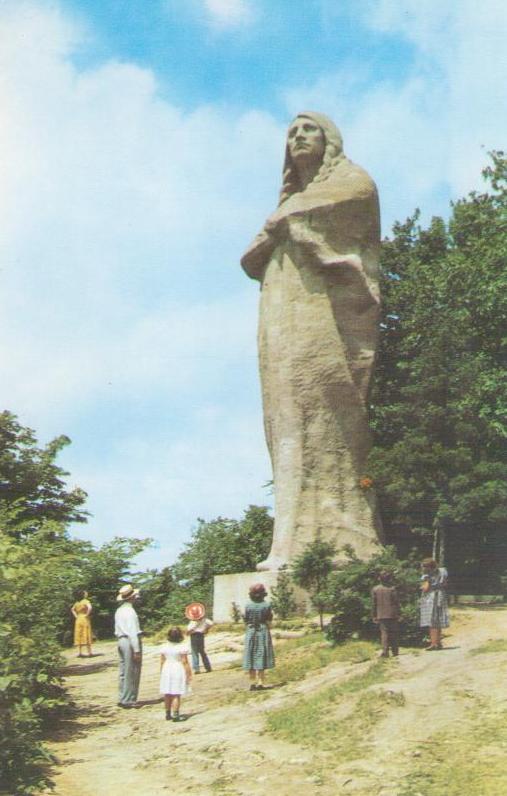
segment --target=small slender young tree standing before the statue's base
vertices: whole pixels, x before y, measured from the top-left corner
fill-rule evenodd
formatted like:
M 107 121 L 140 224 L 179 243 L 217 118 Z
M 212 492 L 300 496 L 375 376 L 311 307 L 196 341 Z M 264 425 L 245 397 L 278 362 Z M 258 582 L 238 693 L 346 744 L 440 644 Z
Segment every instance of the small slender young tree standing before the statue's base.
M 292 564 L 292 578 L 310 594 L 312 605 L 319 612 L 321 630 L 327 606 L 327 580 L 333 570 L 335 554 L 336 547 L 317 536 Z

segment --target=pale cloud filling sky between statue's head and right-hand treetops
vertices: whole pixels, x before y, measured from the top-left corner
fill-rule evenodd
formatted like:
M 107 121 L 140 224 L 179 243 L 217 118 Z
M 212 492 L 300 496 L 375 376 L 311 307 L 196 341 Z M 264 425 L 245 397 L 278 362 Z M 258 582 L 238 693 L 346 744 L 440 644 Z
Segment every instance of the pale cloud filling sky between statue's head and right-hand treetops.
M 379 184 L 388 233 L 416 206 L 425 220 L 446 215 L 450 198 L 482 185 L 485 150 L 502 148 L 507 128 L 507 13 L 500 0 L 372 0 L 361 10 L 393 47 L 400 35 L 413 46 L 405 73 L 384 77 L 364 59 L 283 96 L 292 114 L 310 107 L 337 121 L 345 151 Z

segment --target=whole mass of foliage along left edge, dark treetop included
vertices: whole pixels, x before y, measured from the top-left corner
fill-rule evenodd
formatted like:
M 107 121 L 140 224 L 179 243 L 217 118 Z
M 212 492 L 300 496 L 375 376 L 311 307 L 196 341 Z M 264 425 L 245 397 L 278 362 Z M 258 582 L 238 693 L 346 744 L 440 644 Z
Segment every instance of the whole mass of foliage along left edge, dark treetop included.
M 71 539 L 84 493 L 68 491 L 54 462 L 63 439 L 46 448 L 7 412 L 0 414 L 0 782 L 11 794 L 45 780 L 44 727 L 65 709 L 61 642 L 70 606 L 86 588 L 94 630 L 109 635 L 118 583 L 149 540 L 115 539 L 96 550 Z

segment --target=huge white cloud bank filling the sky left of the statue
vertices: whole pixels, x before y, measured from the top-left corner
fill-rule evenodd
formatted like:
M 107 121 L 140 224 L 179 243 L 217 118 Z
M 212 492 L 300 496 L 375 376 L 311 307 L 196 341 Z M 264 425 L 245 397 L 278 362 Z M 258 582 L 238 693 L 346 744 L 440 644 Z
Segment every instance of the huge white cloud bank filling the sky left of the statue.
M 198 515 L 238 515 L 269 478 L 239 258 L 283 130 L 172 106 L 134 64 L 80 70 L 79 41 L 54 10 L 0 6 L 2 408 L 73 439 L 62 464 L 95 514 L 79 535 L 154 535 L 174 557 Z

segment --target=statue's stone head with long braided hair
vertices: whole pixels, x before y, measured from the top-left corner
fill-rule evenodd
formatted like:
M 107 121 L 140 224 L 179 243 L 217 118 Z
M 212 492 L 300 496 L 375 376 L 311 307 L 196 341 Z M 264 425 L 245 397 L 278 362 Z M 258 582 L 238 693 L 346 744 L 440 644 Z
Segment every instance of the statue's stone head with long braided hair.
M 313 182 L 323 182 L 328 179 L 342 157 L 341 133 L 331 119 L 314 111 L 298 113 L 287 133 L 280 202 L 301 190 L 298 161 L 318 161 Z

